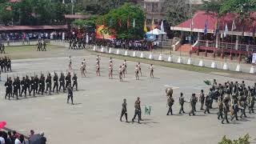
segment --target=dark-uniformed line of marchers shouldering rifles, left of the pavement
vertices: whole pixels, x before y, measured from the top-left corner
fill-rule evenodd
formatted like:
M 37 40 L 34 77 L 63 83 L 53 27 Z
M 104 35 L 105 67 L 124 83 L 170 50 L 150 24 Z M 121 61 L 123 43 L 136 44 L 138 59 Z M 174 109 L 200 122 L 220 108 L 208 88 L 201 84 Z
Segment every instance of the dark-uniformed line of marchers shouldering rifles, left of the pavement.
M 71 86 L 72 83 L 73 86 Z M 40 78 L 38 75 L 34 74 L 34 76 L 30 77 L 26 75 L 26 77 L 22 77 L 22 79 L 17 76 L 14 78 L 13 82 L 12 78 L 7 76 L 5 86 L 5 98 L 9 100 L 10 98 L 18 99 L 22 96 L 26 98 L 28 95 L 35 96 L 36 94 L 58 94 L 61 90 L 63 90 L 64 93 L 68 90 L 68 94 L 70 94 L 73 89 L 78 90 L 78 77 L 77 74 L 74 74 L 72 77 L 70 72 L 68 72 L 66 76 L 61 73 L 60 77 L 58 77 L 58 74 L 54 72 L 53 78 L 50 73 L 47 74 L 46 77 L 44 74 L 41 74 Z

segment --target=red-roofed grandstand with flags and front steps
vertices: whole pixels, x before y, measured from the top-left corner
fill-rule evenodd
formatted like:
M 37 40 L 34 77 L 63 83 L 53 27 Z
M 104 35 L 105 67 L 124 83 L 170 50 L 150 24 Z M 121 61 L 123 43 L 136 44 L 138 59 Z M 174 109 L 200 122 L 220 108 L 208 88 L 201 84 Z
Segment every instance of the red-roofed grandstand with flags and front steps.
M 240 22 L 238 14 L 226 14 L 218 18 L 217 14 L 198 11 L 186 22 L 170 26 L 170 30 L 180 31 L 186 39 L 190 39 L 188 37 L 191 35 L 194 42 L 188 50 L 192 48 L 192 52 L 205 50 L 230 55 L 248 54 L 256 52 L 256 21 L 251 21 L 255 18 L 256 13 L 253 13 L 249 19 Z

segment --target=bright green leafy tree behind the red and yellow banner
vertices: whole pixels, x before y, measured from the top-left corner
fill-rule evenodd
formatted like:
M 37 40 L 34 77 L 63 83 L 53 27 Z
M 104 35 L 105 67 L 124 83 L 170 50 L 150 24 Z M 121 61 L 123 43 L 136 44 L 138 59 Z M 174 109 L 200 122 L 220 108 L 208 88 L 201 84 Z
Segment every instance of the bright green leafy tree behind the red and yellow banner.
M 129 27 L 127 26 L 128 20 L 130 20 Z M 135 27 L 133 27 L 134 20 Z M 122 26 L 119 26 L 119 21 Z M 98 18 L 98 24 L 105 24 L 109 31 L 114 29 L 117 38 L 139 39 L 144 37 L 144 14 L 140 6 L 126 3 L 120 8 L 110 10 L 110 13 Z

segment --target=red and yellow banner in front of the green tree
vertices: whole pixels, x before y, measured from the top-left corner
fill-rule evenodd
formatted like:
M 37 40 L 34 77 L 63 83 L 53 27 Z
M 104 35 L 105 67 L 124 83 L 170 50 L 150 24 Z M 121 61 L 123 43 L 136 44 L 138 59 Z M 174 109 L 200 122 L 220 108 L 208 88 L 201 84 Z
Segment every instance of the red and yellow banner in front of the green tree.
M 111 30 L 112 35 L 105 33 L 106 31 L 104 30 L 106 29 L 106 26 L 104 25 L 100 25 L 100 26 L 96 26 L 96 38 L 101 38 L 101 39 L 115 39 L 115 35 L 114 35 L 114 30 Z

